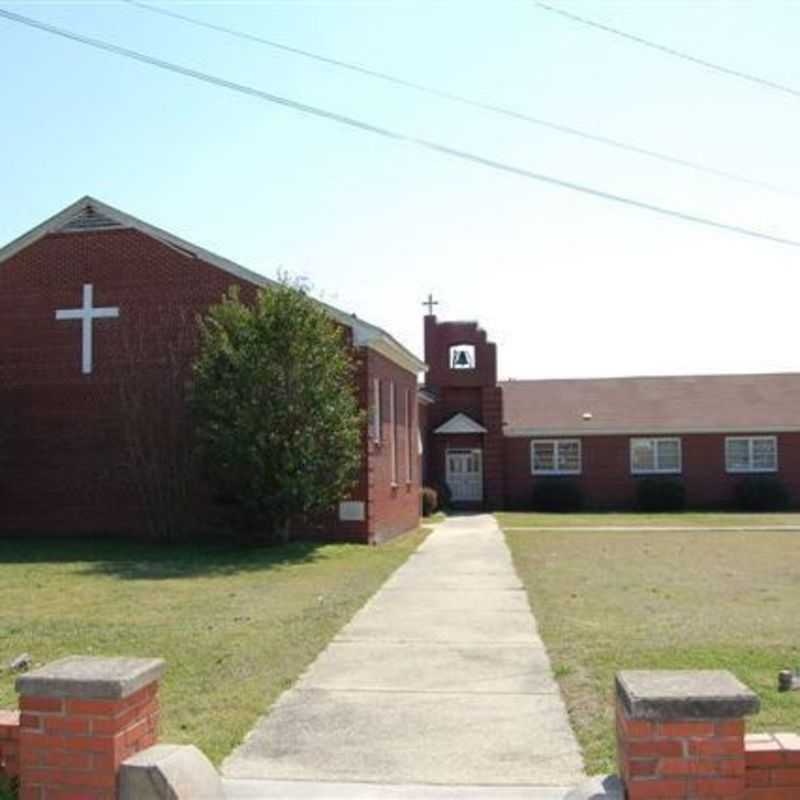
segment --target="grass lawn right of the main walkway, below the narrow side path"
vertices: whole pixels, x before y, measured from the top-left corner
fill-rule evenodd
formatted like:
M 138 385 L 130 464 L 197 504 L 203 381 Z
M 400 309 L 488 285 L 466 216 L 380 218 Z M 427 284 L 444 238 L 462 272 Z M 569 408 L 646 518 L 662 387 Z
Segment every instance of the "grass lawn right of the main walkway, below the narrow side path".
M 751 731 L 800 731 L 800 533 L 507 531 L 590 774 L 614 772 L 620 669 L 729 669 Z

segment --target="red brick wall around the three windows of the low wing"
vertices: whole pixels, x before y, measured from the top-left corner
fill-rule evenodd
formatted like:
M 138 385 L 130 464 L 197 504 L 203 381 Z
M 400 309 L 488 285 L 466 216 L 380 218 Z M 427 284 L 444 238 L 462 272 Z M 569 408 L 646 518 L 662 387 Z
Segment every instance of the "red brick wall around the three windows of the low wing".
M 759 431 L 753 431 L 758 434 Z M 549 437 L 541 437 L 549 438 Z M 575 437 L 564 437 L 575 438 Z M 637 481 L 631 475 L 630 436 L 581 438 L 583 472 L 572 476 L 583 487 L 590 508 L 631 508 L 636 503 Z M 682 473 L 687 503 L 693 508 L 724 508 L 730 504 L 743 475 L 725 471 L 725 436 L 681 436 Z M 505 439 L 505 499 L 511 508 L 530 506 L 533 483 L 529 437 Z M 800 434 L 778 435 L 777 476 L 800 501 Z

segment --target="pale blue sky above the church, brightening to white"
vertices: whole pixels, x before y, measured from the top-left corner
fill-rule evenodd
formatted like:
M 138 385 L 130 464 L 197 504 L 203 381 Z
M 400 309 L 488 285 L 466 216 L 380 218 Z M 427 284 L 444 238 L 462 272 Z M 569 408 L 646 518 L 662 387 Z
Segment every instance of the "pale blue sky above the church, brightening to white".
M 800 3 L 559 5 L 800 88 Z M 119 3 L 0 7 L 535 172 L 800 239 L 800 98 L 529 2 L 180 10 L 790 192 L 622 153 Z M 0 76 L 0 242 L 93 194 L 266 275 L 306 275 L 329 302 L 420 353 L 420 303 L 433 291 L 441 318 L 483 323 L 504 377 L 800 368 L 800 249 L 452 160 L 4 20 Z

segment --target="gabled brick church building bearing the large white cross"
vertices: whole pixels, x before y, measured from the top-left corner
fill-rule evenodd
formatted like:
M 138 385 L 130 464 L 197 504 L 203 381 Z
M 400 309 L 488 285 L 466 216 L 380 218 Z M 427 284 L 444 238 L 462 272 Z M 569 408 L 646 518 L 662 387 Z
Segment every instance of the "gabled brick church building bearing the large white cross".
M 232 285 L 247 299 L 270 283 L 91 197 L 0 249 L 0 534 L 141 534 L 148 513 L 169 513 L 153 508 L 148 476 L 157 466 L 168 486 L 184 466 L 176 390 L 195 318 Z M 352 346 L 370 422 L 358 484 L 322 530 L 380 542 L 419 520 L 425 365 L 326 308 Z M 205 500 L 188 498 L 203 513 Z

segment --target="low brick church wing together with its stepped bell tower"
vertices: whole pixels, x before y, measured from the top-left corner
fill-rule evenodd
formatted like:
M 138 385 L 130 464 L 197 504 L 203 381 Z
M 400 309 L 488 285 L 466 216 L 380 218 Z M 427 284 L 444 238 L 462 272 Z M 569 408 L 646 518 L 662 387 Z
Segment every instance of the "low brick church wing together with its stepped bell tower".
M 537 482 L 626 509 L 669 477 L 690 508 L 728 508 L 752 476 L 800 505 L 800 374 L 497 380 L 476 322 L 425 318 L 425 482 L 464 506 L 531 508 Z

